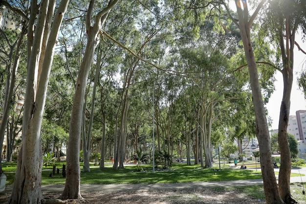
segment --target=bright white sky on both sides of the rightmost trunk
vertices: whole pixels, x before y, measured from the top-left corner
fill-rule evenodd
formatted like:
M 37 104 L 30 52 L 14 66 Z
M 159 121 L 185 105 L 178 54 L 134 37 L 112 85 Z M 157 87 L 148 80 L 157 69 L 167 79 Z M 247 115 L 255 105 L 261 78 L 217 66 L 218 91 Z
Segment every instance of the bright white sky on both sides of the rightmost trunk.
M 301 36 L 297 35 L 295 38 L 296 42 L 300 47 L 306 51 L 306 42 L 302 42 Z M 297 46 L 294 46 L 294 62 L 293 62 L 293 84 L 290 98 L 290 113 L 289 115 L 295 115 L 298 110 L 306 110 L 306 99 L 304 97 L 303 91 L 299 89 L 297 84 L 297 77 L 299 73 L 304 68 L 306 69 L 306 55 L 299 51 Z M 271 117 L 272 129 L 278 129 L 278 121 L 280 117 L 281 102 L 283 97 L 283 75 L 278 72 L 276 75 L 277 81 L 275 82 L 275 91 L 272 94 L 269 103 L 266 105 L 268 110 L 268 115 Z

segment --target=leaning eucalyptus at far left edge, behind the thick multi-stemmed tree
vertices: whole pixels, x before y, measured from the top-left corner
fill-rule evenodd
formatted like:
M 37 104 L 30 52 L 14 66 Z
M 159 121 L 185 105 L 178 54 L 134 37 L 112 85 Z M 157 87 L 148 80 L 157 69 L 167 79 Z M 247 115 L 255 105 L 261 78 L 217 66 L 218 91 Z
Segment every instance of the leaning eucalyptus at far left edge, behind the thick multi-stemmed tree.
M 14 110 L 14 105 L 16 105 L 16 89 L 15 84 L 17 80 L 17 70 L 19 68 L 19 62 L 22 55 L 22 50 L 24 50 L 24 36 L 26 35 L 26 28 L 27 28 L 27 21 L 28 19 L 25 18 L 22 22 L 20 22 L 20 17 L 18 14 L 14 14 L 13 11 L 9 9 L 10 4 L 7 2 L 3 2 L 4 5 L 7 7 L 1 7 L 0 12 L 2 17 L 4 18 L 3 21 L 9 21 L 12 20 L 16 23 L 16 27 L 19 29 L 13 29 L 10 30 L 6 27 L 0 27 L 0 38 L 1 40 L 1 52 L 0 52 L 0 62 L 1 62 L 1 69 L 5 67 L 6 73 L 2 73 L 2 76 L 6 76 L 5 80 L 5 91 L 4 91 L 4 98 L 3 98 L 3 110 L 1 115 L 1 125 L 0 125 L 0 144 L 1 144 L 1 151 L 2 151 L 2 144 L 4 140 L 5 135 L 5 129 L 7 129 L 7 138 L 11 139 L 7 142 L 7 156 L 8 161 L 10 161 L 11 158 L 11 149 L 13 148 L 13 135 L 16 136 L 16 133 L 14 133 L 12 128 L 15 124 L 13 123 L 13 120 L 10 122 L 11 127 L 8 126 L 9 123 L 9 114 L 10 110 Z M 10 18 L 10 19 L 6 19 Z M 24 56 L 23 56 L 24 57 Z M 3 66 L 3 67 L 2 67 Z M 4 72 L 4 71 L 3 71 Z M 4 77 L 2 78 L 4 80 Z M 14 113 L 13 113 L 14 114 Z M 16 117 L 11 117 L 16 118 Z M 13 139 L 13 140 L 12 140 Z M 10 148 L 10 149 L 9 149 Z M 1 155 L 2 156 L 2 155 Z M 1 158 L 2 159 L 2 158 Z M 2 174 L 2 165 L 0 163 L 0 175 Z

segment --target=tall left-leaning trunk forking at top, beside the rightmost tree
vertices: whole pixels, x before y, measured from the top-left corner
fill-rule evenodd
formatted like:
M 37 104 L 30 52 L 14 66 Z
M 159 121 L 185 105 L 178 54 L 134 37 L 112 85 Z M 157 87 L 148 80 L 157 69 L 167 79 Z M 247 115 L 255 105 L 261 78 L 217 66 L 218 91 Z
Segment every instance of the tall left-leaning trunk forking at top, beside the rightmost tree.
M 259 9 L 262 7 L 265 0 L 262 0 L 255 12 L 258 13 Z M 244 54 L 246 62 L 249 68 L 250 75 L 250 84 L 252 89 L 252 98 L 255 109 L 256 117 L 256 136 L 258 138 L 260 146 L 260 157 L 261 157 L 261 168 L 262 168 L 262 180 L 264 195 L 267 204 L 283 204 L 279 191 L 276 178 L 274 175 L 274 169 L 271 159 L 271 143 L 269 128 L 265 116 L 265 109 L 262 101 L 262 92 L 261 86 L 258 78 L 258 71 L 256 67 L 254 52 L 252 48 L 251 36 L 250 36 L 250 27 L 253 23 L 257 13 L 252 15 L 252 18 L 248 20 L 249 14 L 247 10 L 246 1 L 243 1 L 242 11 L 240 1 L 236 1 L 238 19 L 239 19 L 239 28 L 240 35 L 242 38 Z

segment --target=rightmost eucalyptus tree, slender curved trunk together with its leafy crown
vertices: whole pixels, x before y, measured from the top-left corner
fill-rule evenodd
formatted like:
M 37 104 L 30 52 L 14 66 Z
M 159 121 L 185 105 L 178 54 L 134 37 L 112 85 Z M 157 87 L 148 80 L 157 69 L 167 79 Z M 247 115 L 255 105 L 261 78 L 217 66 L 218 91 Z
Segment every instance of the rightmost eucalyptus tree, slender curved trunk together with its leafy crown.
M 270 0 L 265 18 L 265 31 L 270 33 L 274 45 L 277 47 L 277 69 L 283 74 L 284 91 L 280 108 L 278 127 L 278 142 L 281 152 L 282 165 L 280 167 L 279 193 L 284 203 L 295 200 L 290 193 L 291 156 L 288 146 L 287 127 L 290 112 L 290 97 L 293 82 L 294 46 L 298 29 L 306 36 L 306 4 L 300 0 Z M 270 32 L 269 32 L 270 31 Z

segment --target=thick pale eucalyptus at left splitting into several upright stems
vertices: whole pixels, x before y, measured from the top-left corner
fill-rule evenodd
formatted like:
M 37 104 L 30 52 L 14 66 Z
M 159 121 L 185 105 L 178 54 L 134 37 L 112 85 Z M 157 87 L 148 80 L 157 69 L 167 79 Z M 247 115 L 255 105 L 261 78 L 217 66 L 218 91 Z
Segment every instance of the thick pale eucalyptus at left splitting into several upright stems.
M 1 1 L 3 2 L 3 1 Z M 58 5 L 56 1 L 40 4 L 31 0 L 22 11 L 10 4 L 9 8 L 28 19 L 27 32 L 27 84 L 25 90 L 22 121 L 22 147 L 18 157 L 17 170 L 9 203 L 41 203 L 42 148 L 41 125 L 44 112 L 48 77 L 52 65 L 54 45 L 59 27 L 66 12 L 68 0 Z M 37 18 L 37 14 L 39 14 Z M 54 18 L 53 18 L 54 17 Z M 51 26 L 52 24 L 52 26 Z

